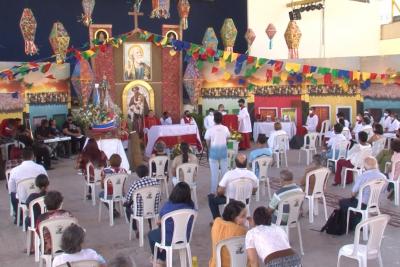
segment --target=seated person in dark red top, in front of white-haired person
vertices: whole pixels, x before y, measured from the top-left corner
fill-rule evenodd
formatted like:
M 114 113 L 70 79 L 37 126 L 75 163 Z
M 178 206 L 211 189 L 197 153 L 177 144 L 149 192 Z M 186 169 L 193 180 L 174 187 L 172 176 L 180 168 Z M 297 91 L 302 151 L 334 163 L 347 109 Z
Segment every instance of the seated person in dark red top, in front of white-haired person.
M 36 220 L 36 232 L 39 235 L 40 224 L 43 221 L 58 219 L 58 218 L 70 218 L 73 217 L 69 211 L 61 209 L 63 202 L 63 196 L 58 191 L 48 191 L 44 197 L 44 204 L 46 205 L 47 212 L 40 214 Z M 51 237 L 47 229 L 43 229 L 44 236 L 44 251 L 45 254 L 51 253 Z

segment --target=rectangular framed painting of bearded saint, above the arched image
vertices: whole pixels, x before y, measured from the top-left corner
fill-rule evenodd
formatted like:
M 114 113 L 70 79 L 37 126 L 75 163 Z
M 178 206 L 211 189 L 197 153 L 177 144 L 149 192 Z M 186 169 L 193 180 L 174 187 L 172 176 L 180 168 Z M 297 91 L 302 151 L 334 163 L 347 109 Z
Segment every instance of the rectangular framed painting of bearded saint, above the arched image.
M 151 43 L 124 43 L 124 81 L 151 81 Z

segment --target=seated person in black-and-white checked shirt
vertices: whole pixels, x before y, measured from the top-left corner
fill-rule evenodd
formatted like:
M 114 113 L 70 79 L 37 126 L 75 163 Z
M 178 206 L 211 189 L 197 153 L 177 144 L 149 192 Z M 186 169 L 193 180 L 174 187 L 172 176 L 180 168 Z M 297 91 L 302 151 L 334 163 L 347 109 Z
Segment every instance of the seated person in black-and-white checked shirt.
M 139 179 L 132 183 L 132 185 L 129 187 L 128 194 L 125 197 L 124 206 L 126 207 L 125 212 L 128 220 L 133 214 L 132 208 L 134 207 L 135 201 L 138 202 L 137 206 L 139 207 L 138 210 L 136 211 L 137 216 L 143 215 L 142 197 L 139 196 L 137 199 L 133 199 L 133 196 L 136 193 L 136 191 L 145 187 L 160 186 L 160 182 L 158 180 L 149 177 L 149 168 L 147 168 L 147 166 L 140 165 L 139 167 L 136 168 L 136 173 Z M 158 212 L 158 206 L 160 204 L 160 201 L 161 201 L 161 196 L 160 195 L 156 196 L 156 204 L 154 207 L 156 212 Z M 142 208 L 140 209 L 140 207 Z M 151 220 L 149 220 L 149 225 L 151 226 Z M 132 229 L 136 232 L 136 238 L 139 238 L 139 231 L 137 229 L 135 220 L 133 220 L 132 222 Z

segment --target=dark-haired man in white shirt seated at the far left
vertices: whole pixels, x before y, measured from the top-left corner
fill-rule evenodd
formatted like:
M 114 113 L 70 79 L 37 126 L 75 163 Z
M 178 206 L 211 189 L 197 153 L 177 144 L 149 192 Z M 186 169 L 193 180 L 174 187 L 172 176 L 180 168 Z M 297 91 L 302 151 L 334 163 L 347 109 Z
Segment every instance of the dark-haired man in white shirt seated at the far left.
M 39 165 L 33 161 L 33 150 L 32 148 L 26 147 L 22 151 L 23 162 L 17 167 L 13 168 L 10 172 L 10 179 L 8 180 L 8 192 L 11 197 L 11 203 L 13 206 L 14 214 L 17 214 L 18 202 L 24 203 L 27 199 L 27 194 L 24 190 L 17 191 L 17 183 L 28 179 L 36 178 L 39 174 L 45 174 L 47 172 L 42 165 Z M 16 218 L 14 223 L 16 222 Z

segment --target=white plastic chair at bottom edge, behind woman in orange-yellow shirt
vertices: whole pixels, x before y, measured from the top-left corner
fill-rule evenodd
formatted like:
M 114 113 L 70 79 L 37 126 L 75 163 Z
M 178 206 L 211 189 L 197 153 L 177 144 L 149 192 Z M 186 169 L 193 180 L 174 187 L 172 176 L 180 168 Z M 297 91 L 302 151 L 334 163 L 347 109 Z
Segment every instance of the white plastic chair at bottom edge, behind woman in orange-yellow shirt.
M 246 237 L 237 236 L 221 240 L 216 245 L 216 267 L 222 267 L 221 252 L 225 247 L 230 257 L 229 267 L 243 267 L 247 265 Z

